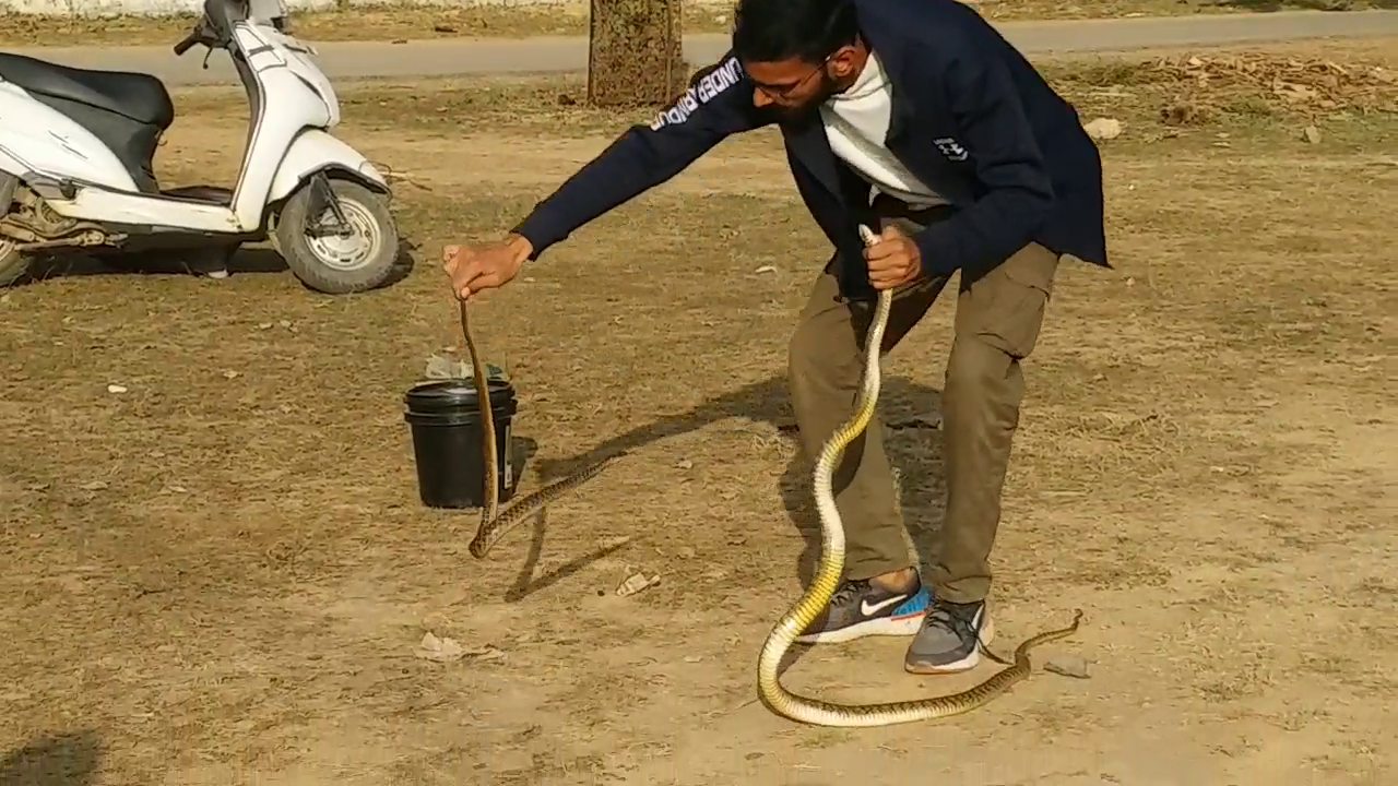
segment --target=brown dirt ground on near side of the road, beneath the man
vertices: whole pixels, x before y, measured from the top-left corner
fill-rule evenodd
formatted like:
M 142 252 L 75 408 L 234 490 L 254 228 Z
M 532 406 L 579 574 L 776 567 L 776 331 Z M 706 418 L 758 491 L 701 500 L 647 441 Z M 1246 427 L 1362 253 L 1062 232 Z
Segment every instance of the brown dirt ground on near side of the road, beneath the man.
M 460 343 L 438 249 L 495 236 L 624 119 L 561 105 L 579 78 L 347 88 L 344 136 L 398 172 L 419 245 L 398 284 L 320 296 L 250 249 L 225 281 L 75 264 L 0 295 L 0 783 L 1394 783 L 1395 52 L 1053 67 L 1125 122 L 1102 143 L 1117 269 L 1064 264 L 1026 364 L 993 611 L 1002 652 L 1083 627 L 981 710 L 849 731 L 752 701 L 818 550 L 783 373 L 828 245 L 776 134 L 477 308 L 526 490 L 632 455 L 475 561 L 475 512 L 421 506 L 401 415 Z M 178 103 L 165 178 L 226 182 L 236 95 Z M 923 559 L 952 310 L 885 364 Z M 661 580 L 617 596 L 635 572 Z M 425 632 L 467 655 L 415 657 Z M 874 701 L 997 669 L 914 678 L 905 646 L 814 648 L 784 680 Z M 1069 657 L 1088 678 L 1042 669 Z

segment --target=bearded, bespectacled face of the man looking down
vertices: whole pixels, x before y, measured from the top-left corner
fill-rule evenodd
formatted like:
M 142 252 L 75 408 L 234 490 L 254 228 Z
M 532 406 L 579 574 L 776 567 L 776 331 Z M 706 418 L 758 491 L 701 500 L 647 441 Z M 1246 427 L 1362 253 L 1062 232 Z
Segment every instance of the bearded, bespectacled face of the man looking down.
M 825 99 L 846 90 L 864 63 L 860 48 L 843 46 L 819 63 L 800 57 L 773 63 L 744 63 L 755 88 L 752 103 L 776 115 L 777 122 L 814 120 Z

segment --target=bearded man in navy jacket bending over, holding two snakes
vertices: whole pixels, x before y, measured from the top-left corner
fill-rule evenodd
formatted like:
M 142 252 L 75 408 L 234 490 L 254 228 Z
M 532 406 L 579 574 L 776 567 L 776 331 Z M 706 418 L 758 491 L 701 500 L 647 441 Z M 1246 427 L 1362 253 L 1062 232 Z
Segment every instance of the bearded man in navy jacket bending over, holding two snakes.
M 1102 165 L 1076 112 L 953 0 L 741 0 L 733 48 L 650 127 L 625 131 L 495 245 L 449 246 L 457 296 L 512 280 L 573 229 L 677 175 L 724 137 L 781 129 L 835 255 L 790 343 L 814 457 L 850 415 L 875 291 L 896 291 L 885 350 L 960 271 L 942 393 L 946 516 L 928 593 L 907 554 L 878 422 L 835 488 L 847 575 L 804 642 L 914 635 L 905 667 L 966 670 L 988 642 L 987 559 L 1011 436 L 1061 255 L 1107 267 Z M 864 248 L 858 225 L 881 231 Z

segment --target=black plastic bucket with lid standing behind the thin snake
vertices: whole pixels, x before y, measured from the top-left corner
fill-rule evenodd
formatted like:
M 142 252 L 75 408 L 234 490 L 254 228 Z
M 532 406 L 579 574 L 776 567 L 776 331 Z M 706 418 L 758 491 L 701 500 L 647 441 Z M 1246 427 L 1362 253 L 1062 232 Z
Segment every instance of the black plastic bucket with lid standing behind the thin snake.
M 499 501 L 514 494 L 510 462 L 510 421 L 514 387 L 489 380 L 491 415 L 495 421 L 495 469 Z M 447 379 L 415 385 L 403 397 L 403 420 L 412 429 L 412 455 L 418 464 L 418 495 L 428 508 L 481 508 L 485 505 L 485 464 L 481 460 L 481 414 L 475 383 Z

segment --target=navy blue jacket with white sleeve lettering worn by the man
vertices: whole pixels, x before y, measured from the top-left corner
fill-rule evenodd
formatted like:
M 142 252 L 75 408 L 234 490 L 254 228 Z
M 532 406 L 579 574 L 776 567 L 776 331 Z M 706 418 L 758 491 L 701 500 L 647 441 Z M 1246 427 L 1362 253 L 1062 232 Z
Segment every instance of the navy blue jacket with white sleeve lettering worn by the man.
M 1102 161 L 1078 112 L 988 22 L 955 0 L 853 0 L 893 90 L 886 145 L 955 213 L 916 235 L 930 274 L 979 276 L 1037 241 L 1109 266 Z M 572 231 L 679 173 L 728 134 L 773 122 L 731 55 L 649 126 L 635 126 L 514 231 L 537 257 Z M 868 183 L 835 157 L 819 120 L 781 127 L 807 207 L 835 245 L 840 290 L 870 298 L 860 222 Z

